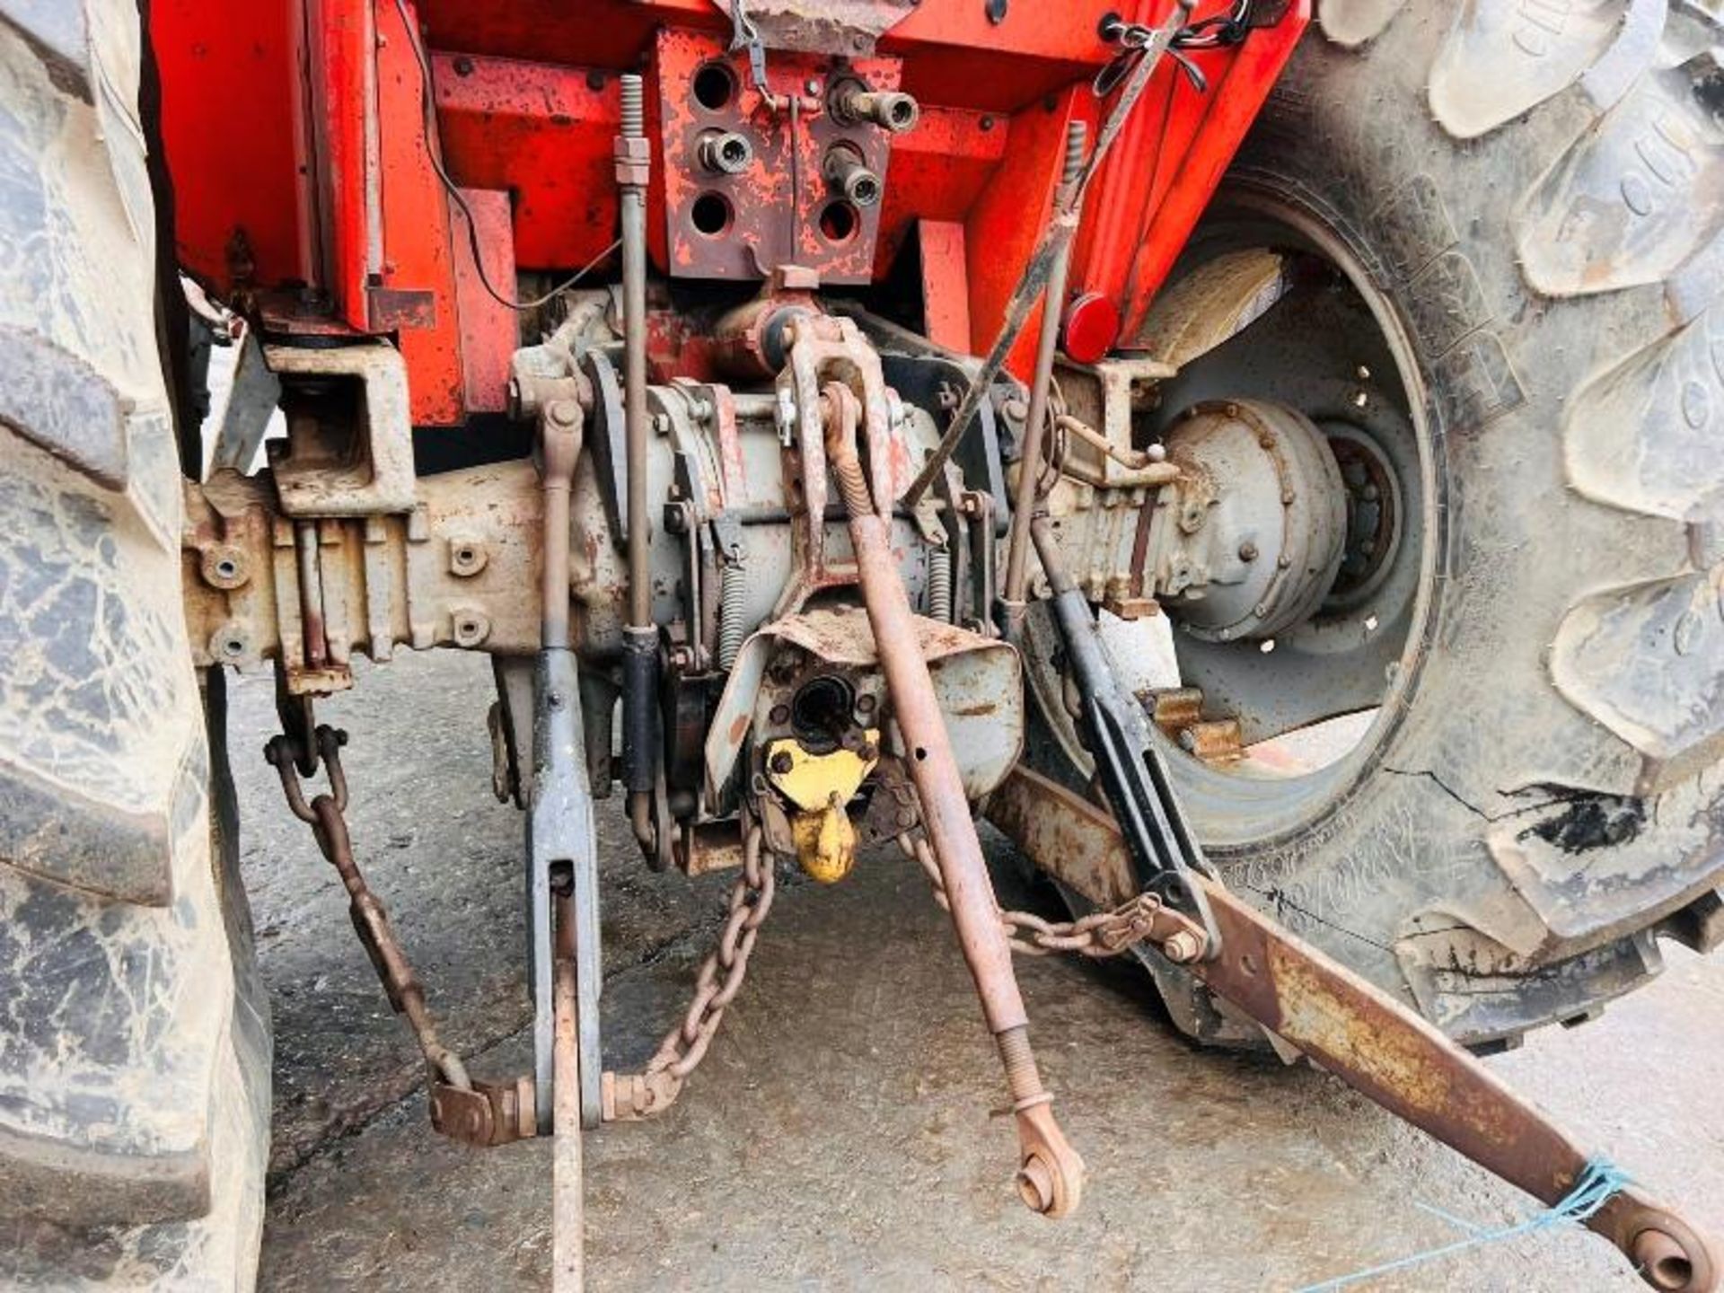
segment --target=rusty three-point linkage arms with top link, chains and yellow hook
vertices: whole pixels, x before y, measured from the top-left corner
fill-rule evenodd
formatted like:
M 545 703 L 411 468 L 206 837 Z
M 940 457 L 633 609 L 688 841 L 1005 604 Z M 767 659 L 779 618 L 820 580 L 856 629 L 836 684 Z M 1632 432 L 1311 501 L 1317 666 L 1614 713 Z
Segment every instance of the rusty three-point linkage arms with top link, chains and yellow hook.
M 1260 1024 L 1284 1053 L 1307 1055 L 1534 1198 L 1548 1205 L 1564 1200 L 1590 1165 L 1574 1141 L 1474 1055 L 1234 898 L 1214 876 L 1169 790 L 1143 707 L 1119 695 L 1088 602 L 1065 574 L 1046 514 L 1036 507 L 1019 515 L 1046 576 L 1069 667 L 1083 695 L 1084 738 L 1112 810 L 1014 767 L 993 790 L 988 815 L 1036 865 L 1103 910 L 1050 922 L 998 907 L 926 659 L 928 622 L 914 615 L 890 555 L 891 514 L 876 502 L 888 495 L 871 484 L 857 452 L 859 436 L 883 434 L 883 428 L 867 426 L 871 410 L 883 415 L 886 407 L 878 360 L 871 365 L 872 353 L 845 322 L 805 319 L 793 328 L 791 364 L 810 353 L 819 357 L 812 362 L 821 376 L 817 398 L 807 410 L 819 440 L 805 445 L 824 450 L 822 469 L 831 471 L 848 515 L 853 574 L 888 696 L 876 714 L 890 712 L 893 753 L 884 752 L 879 728 L 869 729 L 859 748 L 840 748 L 836 755 L 845 759 L 807 757 L 779 748 L 784 743 L 769 746 L 765 778 L 755 784 L 743 814 L 741 865 L 717 946 L 700 967 L 683 1021 L 641 1072 L 584 1067 L 597 1057 L 597 900 L 586 888 L 595 883 L 591 803 L 584 769 L 576 776 L 574 757 L 581 748 L 579 707 L 569 702 L 578 679 L 572 652 L 557 645 L 569 634 L 565 598 L 545 598 L 547 645 L 534 702 L 536 781 L 529 800 L 531 874 L 543 879 L 552 929 L 550 965 L 534 976 L 534 986 L 543 983 L 550 990 L 550 1009 L 543 1012 L 550 1022 L 545 1081 L 540 1074 L 507 1083 L 474 1081 L 438 1040 L 424 991 L 353 862 L 340 759 L 347 734 L 319 726 L 309 743 L 278 736 L 265 750 L 295 815 L 312 824 L 319 848 L 341 872 L 360 941 L 391 1007 L 407 1015 L 424 1052 L 433 1127 L 479 1146 L 557 1136 L 560 1286 L 576 1286 L 569 1281 L 578 1279 L 581 1262 L 579 1131 L 598 1122 L 655 1117 L 676 1102 L 741 990 L 772 907 L 774 857 L 796 857 L 821 879 L 846 874 L 857 840 L 843 805 L 867 776 L 876 784 L 867 814 L 871 836 L 896 838 L 952 915 L 1005 1069 L 1019 1134 L 1015 1186 L 1033 1210 L 1048 1217 L 1071 1214 L 1083 1195 L 1084 1164 L 1062 1134 L 1052 1095 L 1041 1084 L 1012 952 L 1114 957 L 1134 948 L 1186 967 L 1215 996 Z M 831 376 L 840 371 L 848 376 Z M 581 422 L 567 414 L 553 409 L 541 419 L 548 536 L 567 533 L 567 481 L 581 452 Z M 565 550 L 547 545 L 547 553 Z M 547 590 L 567 579 L 559 565 L 555 559 L 547 562 Z M 562 609 L 560 624 L 553 609 Z M 319 764 L 328 771 L 331 791 L 307 803 L 300 774 Z M 569 821 L 581 829 L 557 838 L 560 822 Z M 583 909 L 595 933 L 588 933 Z M 593 969 L 583 976 L 583 965 Z M 1622 1250 L 1653 1288 L 1698 1293 L 1715 1286 L 1717 1267 L 1702 1234 L 1634 1186 L 1612 1195 L 1586 1226 Z

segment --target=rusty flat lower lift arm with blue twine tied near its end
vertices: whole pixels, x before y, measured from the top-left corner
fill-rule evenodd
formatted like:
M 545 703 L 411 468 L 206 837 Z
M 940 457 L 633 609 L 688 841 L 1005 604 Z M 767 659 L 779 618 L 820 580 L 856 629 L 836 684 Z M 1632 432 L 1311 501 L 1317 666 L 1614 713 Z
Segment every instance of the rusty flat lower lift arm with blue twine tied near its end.
M 1112 905 L 1133 888 L 1114 819 L 1019 767 L 988 815 L 1029 859 L 1083 896 Z M 1196 876 L 1221 931 L 1219 953 L 1191 972 L 1277 1040 L 1396 1117 L 1412 1122 L 1546 1205 L 1560 1203 L 1591 1157 L 1438 1028 L 1214 879 Z M 1165 950 L 1165 945 L 1164 945 Z M 1629 1184 L 1588 1221 L 1665 1293 L 1717 1288 L 1717 1250 L 1676 1212 Z

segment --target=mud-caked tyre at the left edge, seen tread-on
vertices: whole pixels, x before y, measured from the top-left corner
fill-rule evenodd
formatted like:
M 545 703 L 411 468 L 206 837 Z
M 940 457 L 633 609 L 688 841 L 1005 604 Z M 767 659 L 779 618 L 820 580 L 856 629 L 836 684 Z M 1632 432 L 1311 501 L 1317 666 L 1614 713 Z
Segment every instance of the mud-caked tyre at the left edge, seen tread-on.
M 250 1288 L 269 1040 L 126 3 L 0 3 L 0 1283 Z

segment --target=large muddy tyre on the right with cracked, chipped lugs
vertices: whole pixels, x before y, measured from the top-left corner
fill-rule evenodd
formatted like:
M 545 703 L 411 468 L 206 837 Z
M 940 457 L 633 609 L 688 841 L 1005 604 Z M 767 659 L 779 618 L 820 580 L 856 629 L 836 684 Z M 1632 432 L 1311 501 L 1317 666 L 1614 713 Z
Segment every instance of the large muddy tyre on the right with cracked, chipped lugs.
M 1172 757 L 1240 893 L 1474 1045 L 1588 1017 L 1660 969 L 1660 936 L 1724 934 L 1719 24 L 1521 9 L 1324 0 L 1141 338 L 1245 355 L 1234 390 L 1171 383 L 1169 415 L 1284 398 L 1259 324 L 1198 326 L 1226 276 L 1191 288 L 1271 212 L 1374 302 L 1424 497 L 1383 709 L 1321 800 L 1255 834 Z M 1331 322 L 1277 345 L 1296 360 Z M 1364 407 L 1374 367 L 1296 407 Z M 1065 733 L 1036 757 L 1083 784 Z M 1243 1036 L 1152 969 L 1184 1028 Z

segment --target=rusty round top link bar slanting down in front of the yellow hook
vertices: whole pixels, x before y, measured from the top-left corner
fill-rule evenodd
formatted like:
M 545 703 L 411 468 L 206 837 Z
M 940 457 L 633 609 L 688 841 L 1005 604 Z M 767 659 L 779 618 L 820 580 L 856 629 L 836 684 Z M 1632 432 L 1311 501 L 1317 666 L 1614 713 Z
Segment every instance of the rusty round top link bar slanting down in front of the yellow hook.
M 1083 1193 L 1083 1159 L 1053 1121 L 1052 1100 L 1041 1086 L 1029 1046 L 1029 1017 L 1012 972 L 1012 946 L 998 919 L 988 862 L 976 838 L 964 783 L 946 734 L 945 715 L 922 659 L 910 598 L 891 559 L 888 522 L 874 509 L 862 462 L 857 457 L 860 405 L 843 383 L 821 390 L 826 453 L 850 509 L 862 600 L 879 653 L 893 715 L 909 745 L 905 762 L 922 809 L 922 829 L 934 850 L 941 884 L 957 928 L 964 960 L 981 998 L 988 1029 L 1012 1090 L 1019 1138 L 1019 1196 L 1036 1212 L 1060 1217 L 1078 1207 Z

